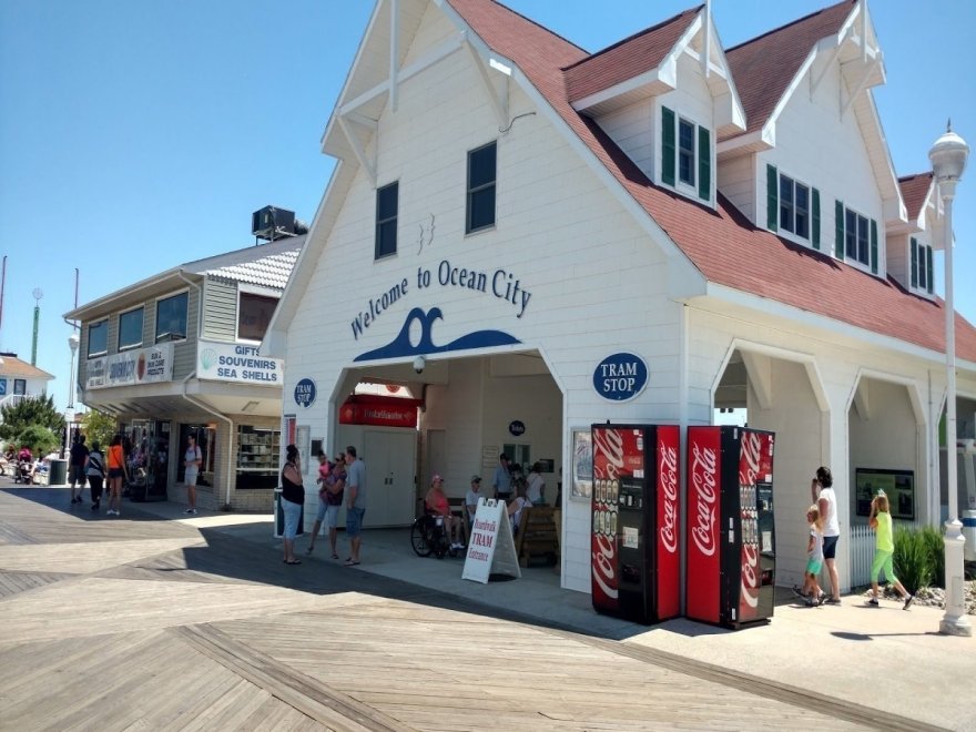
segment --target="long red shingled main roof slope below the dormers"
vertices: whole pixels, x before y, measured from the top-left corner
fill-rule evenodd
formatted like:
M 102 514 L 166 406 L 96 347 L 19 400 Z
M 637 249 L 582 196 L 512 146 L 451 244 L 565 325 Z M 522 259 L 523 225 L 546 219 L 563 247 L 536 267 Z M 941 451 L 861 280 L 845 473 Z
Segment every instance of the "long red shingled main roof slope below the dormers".
M 942 301 L 917 297 L 891 278 L 878 279 L 758 228 L 721 194 L 712 211 L 655 186 L 592 120 L 570 105 L 561 69 L 579 61 L 582 51 L 494 0 L 448 2 L 489 47 L 518 64 L 710 282 L 925 348 L 944 349 Z M 832 240 L 830 234 L 824 238 L 827 251 Z M 976 360 L 976 329 L 958 314 L 956 333 L 959 357 Z

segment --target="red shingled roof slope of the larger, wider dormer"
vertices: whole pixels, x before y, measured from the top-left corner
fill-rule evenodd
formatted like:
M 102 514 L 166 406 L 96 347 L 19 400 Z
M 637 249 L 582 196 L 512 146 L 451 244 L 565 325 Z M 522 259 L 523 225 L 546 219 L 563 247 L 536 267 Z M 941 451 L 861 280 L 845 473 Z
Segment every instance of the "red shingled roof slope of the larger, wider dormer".
M 835 35 L 856 4 L 844 0 L 725 51 L 746 132 L 766 123 L 814 44 Z

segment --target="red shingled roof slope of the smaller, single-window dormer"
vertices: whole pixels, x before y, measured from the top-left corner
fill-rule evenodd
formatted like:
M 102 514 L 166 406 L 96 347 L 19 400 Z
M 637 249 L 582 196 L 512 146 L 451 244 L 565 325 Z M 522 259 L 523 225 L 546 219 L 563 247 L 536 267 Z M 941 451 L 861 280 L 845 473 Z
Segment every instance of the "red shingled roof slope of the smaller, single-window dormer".
M 566 69 L 569 100 L 596 94 L 657 69 L 703 7 L 685 10 Z

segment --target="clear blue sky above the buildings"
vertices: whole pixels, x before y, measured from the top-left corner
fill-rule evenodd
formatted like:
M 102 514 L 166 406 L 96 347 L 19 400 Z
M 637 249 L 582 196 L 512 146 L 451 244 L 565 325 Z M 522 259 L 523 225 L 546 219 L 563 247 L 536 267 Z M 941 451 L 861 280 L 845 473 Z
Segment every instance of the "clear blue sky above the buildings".
M 508 0 L 597 51 L 694 0 Z M 714 0 L 735 45 L 832 4 Z M 976 2 L 874 0 L 888 82 L 875 100 L 898 175 L 928 170 L 946 118 L 976 146 Z M 247 246 L 265 204 L 311 222 L 319 139 L 370 0 L 0 0 L 0 348 L 69 394 L 62 315 L 157 272 Z M 955 205 L 956 306 L 976 323 L 976 156 Z M 936 257 L 942 292 L 942 256 Z

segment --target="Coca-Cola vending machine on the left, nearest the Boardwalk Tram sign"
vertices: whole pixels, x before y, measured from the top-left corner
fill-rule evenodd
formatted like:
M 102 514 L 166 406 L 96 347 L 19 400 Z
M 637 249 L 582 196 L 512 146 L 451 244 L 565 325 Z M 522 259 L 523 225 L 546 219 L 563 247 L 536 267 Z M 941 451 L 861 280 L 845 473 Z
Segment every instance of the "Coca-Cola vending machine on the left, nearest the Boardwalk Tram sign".
M 592 426 L 598 612 L 641 623 L 680 612 L 679 437 L 673 425 Z

